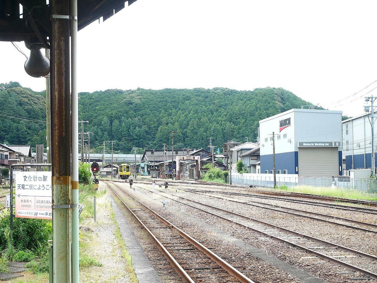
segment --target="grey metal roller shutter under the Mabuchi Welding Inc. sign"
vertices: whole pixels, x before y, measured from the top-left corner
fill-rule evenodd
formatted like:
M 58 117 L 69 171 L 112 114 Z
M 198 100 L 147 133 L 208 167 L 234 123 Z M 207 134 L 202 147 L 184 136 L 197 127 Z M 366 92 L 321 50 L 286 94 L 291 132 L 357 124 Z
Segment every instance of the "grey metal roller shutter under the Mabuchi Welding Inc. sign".
M 339 175 L 337 147 L 299 147 L 299 176 Z

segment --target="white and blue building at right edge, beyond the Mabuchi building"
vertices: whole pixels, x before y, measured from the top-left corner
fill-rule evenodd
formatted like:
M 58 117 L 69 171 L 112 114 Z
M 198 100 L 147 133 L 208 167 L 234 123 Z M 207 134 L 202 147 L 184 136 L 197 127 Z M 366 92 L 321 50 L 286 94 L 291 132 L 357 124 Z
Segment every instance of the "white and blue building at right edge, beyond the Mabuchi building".
M 375 130 L 376 127 L 374 127 L 374 133 Z M 371 113 L 342 121 L 342 133 L 343 155 L 346 158 L 345 169 L 372 168 Z

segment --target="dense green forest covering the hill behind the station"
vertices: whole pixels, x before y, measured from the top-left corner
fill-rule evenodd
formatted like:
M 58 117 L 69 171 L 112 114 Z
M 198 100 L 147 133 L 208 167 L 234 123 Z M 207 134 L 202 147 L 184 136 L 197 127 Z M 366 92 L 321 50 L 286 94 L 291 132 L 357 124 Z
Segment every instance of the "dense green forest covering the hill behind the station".
M 310 105 L 282 88 L 253 91 L 213 89 L 109 89 L 79 93 L 79 119 L 90 136 L 92 150 L 103 141 L 128 153 L 133 146 L 161 148 L 207 147 L 209 138 L 222 147 L 227 140 L 256 141 L 259 120 L 301 105 Z M 45 92 L 34 92 L 17 82 L 0 84 L 0 139 L 9 144 L 45 144 Z M 15 116 L 17 115 L 17 116 Z M 11 116 L 11 118 L 7 117 Z M 23 120 L 26 119 L 26 120 Z M 34 121 L 36 120 L 36 121 Z M 109 145 L 106 145 L 109 148 Z

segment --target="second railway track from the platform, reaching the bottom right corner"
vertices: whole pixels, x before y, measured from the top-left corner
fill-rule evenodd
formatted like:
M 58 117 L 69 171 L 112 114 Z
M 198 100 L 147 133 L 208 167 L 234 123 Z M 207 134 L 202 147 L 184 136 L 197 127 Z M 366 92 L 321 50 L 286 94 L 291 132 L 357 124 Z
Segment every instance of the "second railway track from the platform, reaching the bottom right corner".
M 137 187 L 142 188 L 149 193 L 152 193 L 152 191 L 146 189 L 145 186 Z M 160 194 L 161 196 L 167 197 L 177 203 L 181 203 L 183 205 L 200 210 L 206 214 L 227 220 L 230 223 L 241 226 L 242 228 L 249 229 L 265 237 L 269 237 L 280 242 L 285 242 L 288 245 L 302 249 L 316 257 L 328 260 L 329 262 L 335 263 L 340 266 L 344 266 L 352 271 L 361 272 L 362 274 L 365 274 L 370 278 L 377 279 L 377 274 L 374 272 L 375 270 L 377 270 L 377 257 L 375 255 L 367 254 L 356 249 L 348 248 L 336 243 L 331 243 L 302 233 L 297 233 L 296 231 L 292 231 L 268 222 L 244 216 L 239 213 L 224 210 L 213 205 L 208 205 L 185 197 L 176 196 L 173 193 L 166 193 L 158 189 L 156 189 L 156 191 L 155 194 Z

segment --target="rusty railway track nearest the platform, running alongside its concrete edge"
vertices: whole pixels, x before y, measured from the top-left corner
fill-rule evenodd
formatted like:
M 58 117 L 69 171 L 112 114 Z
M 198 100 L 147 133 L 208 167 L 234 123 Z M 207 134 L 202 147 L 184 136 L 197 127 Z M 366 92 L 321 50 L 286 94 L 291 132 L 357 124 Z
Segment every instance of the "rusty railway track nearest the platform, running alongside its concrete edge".
M 189 234 L 164 219 L 118 185 L 113 184 L 137 203 L 138 208 L 131 209 L 119 196 L 119 191 L 116 193 L 108 181 L 105 183 L 152 237 L 158 249 L 169 260 L 175 271 L 187 282 L 218 282 L 216 277 L 219 277 L 221 278 L 219 281 L 230 283 L 254 283 Z M 188 270 L 190 272 L 187 272 Z

